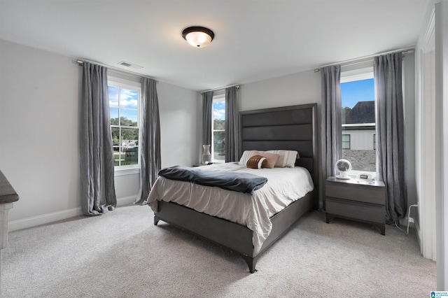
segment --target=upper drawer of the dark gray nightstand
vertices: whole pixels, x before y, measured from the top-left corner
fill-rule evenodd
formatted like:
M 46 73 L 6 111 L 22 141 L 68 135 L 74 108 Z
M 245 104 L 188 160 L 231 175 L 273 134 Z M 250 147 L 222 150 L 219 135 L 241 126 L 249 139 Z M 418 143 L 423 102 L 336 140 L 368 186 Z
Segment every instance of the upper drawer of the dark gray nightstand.
M 327 197 L 337 197 L 352 201 L 363 201 L 371 204 L 386 204 L 386 187 L 356 185 L 346 183 L 331 183 L 325 185 L 325 195 Z

